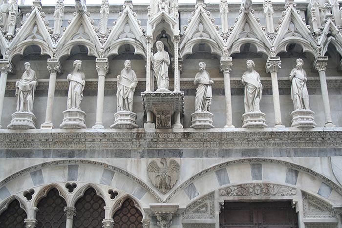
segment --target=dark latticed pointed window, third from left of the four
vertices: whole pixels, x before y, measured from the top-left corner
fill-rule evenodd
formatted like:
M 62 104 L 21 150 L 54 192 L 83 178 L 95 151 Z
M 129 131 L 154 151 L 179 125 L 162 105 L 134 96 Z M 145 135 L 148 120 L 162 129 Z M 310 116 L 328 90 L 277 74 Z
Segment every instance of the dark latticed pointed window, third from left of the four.
M 105 218 L 105 201 L 96 194 L 94 188 L 88 188 L 76 204 L 76 216 L 73 228 L 102 228 Z

